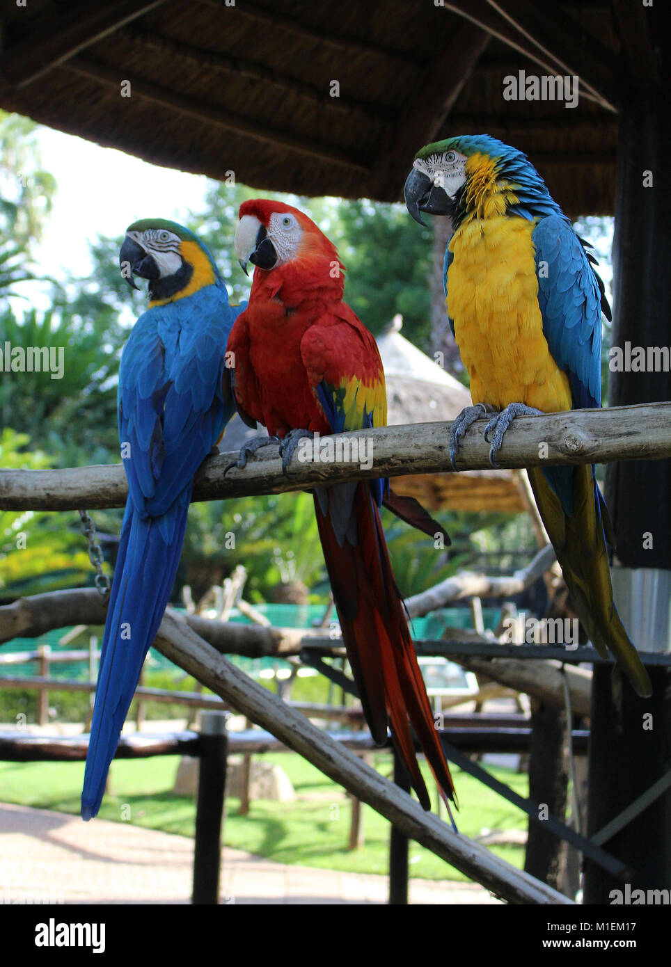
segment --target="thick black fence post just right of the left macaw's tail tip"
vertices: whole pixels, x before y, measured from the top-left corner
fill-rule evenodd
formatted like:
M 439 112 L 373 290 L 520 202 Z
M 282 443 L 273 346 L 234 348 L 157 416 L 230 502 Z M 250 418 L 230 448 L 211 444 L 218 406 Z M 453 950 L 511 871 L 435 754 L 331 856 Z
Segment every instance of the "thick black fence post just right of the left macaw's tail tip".
M 219 903 L 221 823 L 226 788 L 225 712 L 203 712 L 193 849 L 193 903 Z

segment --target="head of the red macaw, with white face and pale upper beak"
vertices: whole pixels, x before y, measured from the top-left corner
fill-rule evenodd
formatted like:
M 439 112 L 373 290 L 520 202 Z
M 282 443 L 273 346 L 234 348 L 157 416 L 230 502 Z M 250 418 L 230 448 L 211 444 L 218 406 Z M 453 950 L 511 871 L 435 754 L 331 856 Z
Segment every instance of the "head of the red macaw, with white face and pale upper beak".
M 270 272 L 290 263 L 325 258 L 342 269 L 336 246 L 312 220 L 270 198 L 253 198 L 240 206 L 235 253 L 245 273 L 248 262 Z

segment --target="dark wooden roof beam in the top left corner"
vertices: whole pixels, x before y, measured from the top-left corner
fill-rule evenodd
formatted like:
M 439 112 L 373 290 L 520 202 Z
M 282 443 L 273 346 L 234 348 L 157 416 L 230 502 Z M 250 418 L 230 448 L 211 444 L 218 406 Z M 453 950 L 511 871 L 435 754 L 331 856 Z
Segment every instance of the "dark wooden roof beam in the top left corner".
M 160 7 L 165 0 L 121 0 L 89 6 L 79 4 L 63 14 L 50 14 L 35 21 L 25 40 L 3 51 L 0 74 L 14 88 L 25 87 L 68 61 L 78 51 L 95 44 L 138 16 Z

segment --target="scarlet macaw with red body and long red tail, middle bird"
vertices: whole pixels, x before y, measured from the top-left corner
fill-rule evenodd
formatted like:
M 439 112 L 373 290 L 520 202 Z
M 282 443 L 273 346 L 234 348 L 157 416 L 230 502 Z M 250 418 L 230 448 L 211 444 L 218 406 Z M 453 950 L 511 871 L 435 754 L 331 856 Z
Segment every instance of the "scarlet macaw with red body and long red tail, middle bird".
M 250 425 L 264 424 L 281 438 L 285 467 L 305 435 L 386 425 L 380 354 L 342 301 L 344 266 L 336 247 L 297 209 L 253 200 L 240 208 L 235 250 L 243 268 L 248 261 L 256 268 L 248 308 L 228 341 L 233 393 Z M 244 448 L 238 465 L 248 452 Z M 452 800 L 454 791 L 380 520 L 387 487 L 383 480 L 317 486 L 314 508 L 371 734 L 386 742 L 389 718 L 395 746 L 428 809 L 410 725 L 442 790 Z

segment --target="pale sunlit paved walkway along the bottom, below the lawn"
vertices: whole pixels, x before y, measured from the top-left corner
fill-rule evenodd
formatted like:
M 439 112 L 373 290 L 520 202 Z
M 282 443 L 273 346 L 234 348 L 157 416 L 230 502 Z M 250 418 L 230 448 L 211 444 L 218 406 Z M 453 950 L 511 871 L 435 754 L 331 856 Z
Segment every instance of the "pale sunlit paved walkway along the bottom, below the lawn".
M 0 903 L 190 903 L 193 840 L 0 804 Z M 386 876 L 223 850 L 221 902 L 386 903 Z M 412 880 L 413 903 L 497 903 L 478 884 Z

